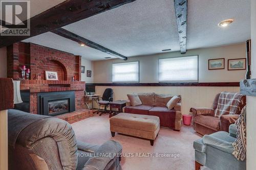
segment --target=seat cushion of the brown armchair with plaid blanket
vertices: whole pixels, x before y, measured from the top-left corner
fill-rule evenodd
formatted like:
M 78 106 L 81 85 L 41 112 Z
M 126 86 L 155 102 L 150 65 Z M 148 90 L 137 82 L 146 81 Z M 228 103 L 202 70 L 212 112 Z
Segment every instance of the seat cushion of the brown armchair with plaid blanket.
M 217 117 L 198 115 L 194 118 L 194 122 L 209 129 L 220 131 L 220 119 Z

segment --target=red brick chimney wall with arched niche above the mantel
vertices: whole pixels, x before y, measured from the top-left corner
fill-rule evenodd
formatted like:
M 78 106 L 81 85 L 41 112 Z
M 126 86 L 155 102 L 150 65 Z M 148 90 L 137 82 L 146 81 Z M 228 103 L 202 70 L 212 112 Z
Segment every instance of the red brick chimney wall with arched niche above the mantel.
M 45 80 L 45 71 L 57 71 L 59 80 L 81 80 L 81 56 L 55 50 L 45 46 L 17 42 L 7 47 L 8 78 L 21 78 L 20 67 L 26 65 L 31 70 L 30 79 L 41 74 Z

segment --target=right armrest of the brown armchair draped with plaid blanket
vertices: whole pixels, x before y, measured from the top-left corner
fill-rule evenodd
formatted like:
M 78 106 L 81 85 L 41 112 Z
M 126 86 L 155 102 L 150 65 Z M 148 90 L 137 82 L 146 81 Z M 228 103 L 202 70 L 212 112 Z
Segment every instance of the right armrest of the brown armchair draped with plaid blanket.
M 220 130 L 229 132 L 229 126 L 236 122 L 239 114 L 226 114 L 220 117 Z

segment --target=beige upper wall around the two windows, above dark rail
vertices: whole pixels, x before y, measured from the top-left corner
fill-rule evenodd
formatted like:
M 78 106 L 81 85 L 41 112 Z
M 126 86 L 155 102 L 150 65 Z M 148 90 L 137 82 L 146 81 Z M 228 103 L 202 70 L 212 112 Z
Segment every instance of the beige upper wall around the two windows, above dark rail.
M 129 61 L 140 61 L 140 83 L 156 83 L 158 82 L 159 58 L 191 55 L 199 55 L 199 82 L 238 82 L 241 79 L 244 79 L 245 70 L 227 70 L 227 59 L 246 57 L 245 43 L 242 43 L 188 50 L 184 55 L 181 55 L 180 52 L 172 52 L 158 55 L 130 57 L 127 61 L 121 59 L 94 61 L 94 83 L 111 83 L 112 63 Z M 225 58 L 225 69 L 208 70 L 208 59 L 214 58 Z

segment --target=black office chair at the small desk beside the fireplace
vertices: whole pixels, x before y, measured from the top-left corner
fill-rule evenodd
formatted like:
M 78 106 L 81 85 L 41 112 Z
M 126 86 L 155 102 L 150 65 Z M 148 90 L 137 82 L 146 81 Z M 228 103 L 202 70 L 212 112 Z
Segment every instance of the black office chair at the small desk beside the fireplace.
M 114 94 L 113 89 L 111 88 L 105 89 L 102 97 L 99 97 L 99 99 L 101 98 L 101 100 L 98 99 L 99 110 L 97 111 L 97 114 L 100 113 L 99 115 L 101 116 L 104 113 L 108 113 L 108 110 L 106 110 L 106 107 L 109 106 L 110 102 L 113 102 L 113 94 Z M 103 111 L 100 109 L 101 105 L 104 105 Z

